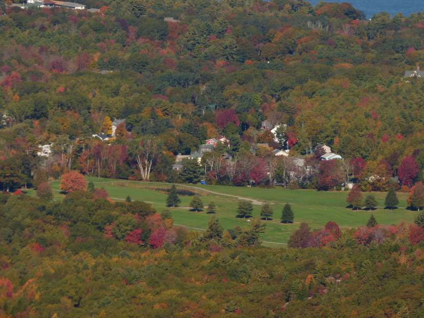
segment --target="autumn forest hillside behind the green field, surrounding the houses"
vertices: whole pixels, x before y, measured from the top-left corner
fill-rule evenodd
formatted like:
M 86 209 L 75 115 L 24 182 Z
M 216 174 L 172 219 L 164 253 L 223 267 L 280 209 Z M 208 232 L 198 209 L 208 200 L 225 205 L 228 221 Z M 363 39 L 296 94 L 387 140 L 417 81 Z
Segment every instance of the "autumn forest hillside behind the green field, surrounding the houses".
M 347 3 L 302 0 L 83 3 L 98 13 L 9 4 L 0 9 L 5 191 L 70 170 L 320 190 L 422 180 L 423 82 L 403 78 L 424 52 L 419 12 L 364 20 Z M 125 123 L 114 138 L 93 138 L 115 119 Z M 280 124 L 276 135 L 265 120 Z M 183 162 L 186 174 L 172 170 L 175 155 L 221 136 L 200 164 Z M 344 160 L 310 155 L 319 143 Z M 40 145 L 51 146 L 48 158 Z

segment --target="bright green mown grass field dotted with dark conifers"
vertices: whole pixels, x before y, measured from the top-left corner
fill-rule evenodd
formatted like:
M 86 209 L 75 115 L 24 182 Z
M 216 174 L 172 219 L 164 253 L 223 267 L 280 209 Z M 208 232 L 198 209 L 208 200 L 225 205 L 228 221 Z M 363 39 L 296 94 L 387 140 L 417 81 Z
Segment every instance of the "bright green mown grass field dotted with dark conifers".
M 159 183 L 128 182 L 123 180 L 111 180 L 95 177 L 86 177 L 87 181 L 93 181 L 96 188 L 104 187 L 109 196 L 115 200 L 124 200 L 127 195 L 132 200 L 143 200 L 150 202 L 158 212 L 166 208 L 165 202 L 167 195 L 153 190 L 153 188 L 167 188 L 170 185 Z M 51 183 L 53 189 L 59 189 L 59 181 Z M 183 186 L 177 186 L 184 188 Z M 274 208 L 274 218 L 266 221 L 266 232 L 262 235 L 262 240 L 275 243 L 287 243 L 288 237 L 299 227 L 300 222 L 307 222 L 312 229 L 323 228 L 328 221 L 334 221 L 339 224 L 341 229 L 354 228 L 359 225 L 365 225 L 371 214 L 374 214 L 380 224 L 395 224 L 401 220 L 411 222 L 417 212 L 406 210 L 406 198 L 408 194 L 398 193 L 399 209 L 383 209 L 386 193 L 374 193 L 378 201 L 378 206 L 374 211 L 352 211 L 346 208 L 347 192 L 318 192 L 311 190 L 288 190 L 283 188 L 261 189 L 246 187 L 227 187 L 227 186 L 202 186 L 194 187 L 220 194 L 199 191 L 205 207 L 210 201 L 214 201 L 218 207 L 215 216 L 219 219 L 224 229 L 234 228 L 236 225 L 248 226 L 247 219 L 237 218 L 236 209 L 238 199 L 228 194 L 240 197 L 246 197 L 259 200 L 263 203 L 270 203 Z M 151 189 L 149 189 L 151 188 Z M 194 191 L 198 191 L 192 189 Z M 31 194 L 32 191 L 30 190 Z M 63 194 L 54 192 L 56 199 L 61 199 Z M 364 197 L 367 194 L 364 193 Z M 175 224 L 189 226 L 196 229 L 206 229 L 211 215 L 206 212 L 193 212 L 184 207 L 189 206 L 191 196 L 180 196 L 181 207 L 172 208 L 172 216 Z M 280 223 L 281 210 L 283 205 L 288 202 L 292 205 L 295 214 L 293 224 Z M 259 216 L 261 206 L 254 205 L 253 216 Z M 274 245 L 274 244 L 272 244 Z

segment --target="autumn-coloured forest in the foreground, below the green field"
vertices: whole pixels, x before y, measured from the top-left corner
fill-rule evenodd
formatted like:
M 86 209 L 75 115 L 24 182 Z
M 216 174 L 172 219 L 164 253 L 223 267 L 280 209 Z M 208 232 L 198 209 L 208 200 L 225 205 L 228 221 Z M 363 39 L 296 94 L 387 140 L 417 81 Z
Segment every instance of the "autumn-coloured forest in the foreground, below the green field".
M 272 249 L 243 243 L 255 226 L 233 239 L 212 218 L 199 235 L 144 202 L 0 200 L 5 316 L 422 315 L 422 215 L 343 233 L 302 223 L 289 248 Z

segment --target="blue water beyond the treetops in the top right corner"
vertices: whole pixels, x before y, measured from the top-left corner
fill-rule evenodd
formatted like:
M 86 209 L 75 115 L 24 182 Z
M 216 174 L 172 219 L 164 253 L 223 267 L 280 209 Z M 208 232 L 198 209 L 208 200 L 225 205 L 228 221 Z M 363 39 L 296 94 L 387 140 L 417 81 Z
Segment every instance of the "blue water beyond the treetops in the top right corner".
M 320 0 L 309 0 L 315 6 Z M 404 16 L 418 11 L 424 12 L 423 0 L 345 0 L 345 1 L 326 1 L 326 2 L 348 2 L 356 9 L 364 11 L 367 19 L 371 18 L 375 13 L 386 11 L 391 16 L 401 12 Z

